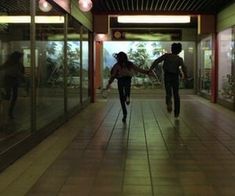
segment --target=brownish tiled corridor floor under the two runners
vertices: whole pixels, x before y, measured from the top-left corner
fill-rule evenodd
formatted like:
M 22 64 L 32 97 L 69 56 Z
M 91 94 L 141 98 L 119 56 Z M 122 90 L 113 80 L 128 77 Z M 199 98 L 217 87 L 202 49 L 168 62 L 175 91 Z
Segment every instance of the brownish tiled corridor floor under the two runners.
M 0 175 L 0 195 L 235 195 L 235 113 L 182 96 L 179 120 L 164 100 L 98 101 Z

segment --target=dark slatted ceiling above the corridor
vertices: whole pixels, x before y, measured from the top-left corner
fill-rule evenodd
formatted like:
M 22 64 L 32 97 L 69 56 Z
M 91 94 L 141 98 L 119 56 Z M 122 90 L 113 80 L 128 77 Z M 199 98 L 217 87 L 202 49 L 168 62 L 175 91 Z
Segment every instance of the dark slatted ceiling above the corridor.
M 93 13 L 215 14 L 235 0 L 92 0 Z

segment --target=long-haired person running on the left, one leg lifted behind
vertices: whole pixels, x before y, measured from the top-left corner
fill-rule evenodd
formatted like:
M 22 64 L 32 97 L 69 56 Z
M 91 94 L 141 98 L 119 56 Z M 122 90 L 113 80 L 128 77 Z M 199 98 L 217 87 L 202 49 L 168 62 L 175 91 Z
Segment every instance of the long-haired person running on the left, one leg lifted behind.
M 119 52 L 115 55 L 115 58 L 117 63 L 112 67 L 111 76 L 106 89 L 110 87 L 111 83 L 116 78 L 118 81 L 118 92 L 123 112 L 122 122 L 125 123 L 127 117 L 126 105 L 130 104 L 131 78 L 135 72 L 147 74 L 148 70 L 141 69 L 134 65 L 128 60 L 128 57 L 124 52 Z

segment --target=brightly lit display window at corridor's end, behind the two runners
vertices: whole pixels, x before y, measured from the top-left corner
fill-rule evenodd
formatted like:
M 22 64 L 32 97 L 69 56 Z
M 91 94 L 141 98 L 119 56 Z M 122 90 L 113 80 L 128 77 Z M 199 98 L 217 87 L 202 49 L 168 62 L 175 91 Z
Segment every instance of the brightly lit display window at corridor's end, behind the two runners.
M 105 41 L 103 53 L 103 86 L 107 84 L 110 70 L 116 62 L 113 54 L 123 51 L 127 53 L 129 60 L 137 66 L 148 69 L 152 62 L 166 52 L 171 52 L 171 44 L 168 41 Z M 195 67 L 195 43 L 181 42 L 183 50 L 179 54 L 187 66 L 189 80 L 182 81 L 180 87 L 192 89 L 194 83 Z M 147 75 L 138 74 L 133 77 L 132 85 L 135 88 L 162 88 L 162 65 L 155 70 L 157 77 L 149 78 Z M 112 84 L 115 88 L 115 82 Z

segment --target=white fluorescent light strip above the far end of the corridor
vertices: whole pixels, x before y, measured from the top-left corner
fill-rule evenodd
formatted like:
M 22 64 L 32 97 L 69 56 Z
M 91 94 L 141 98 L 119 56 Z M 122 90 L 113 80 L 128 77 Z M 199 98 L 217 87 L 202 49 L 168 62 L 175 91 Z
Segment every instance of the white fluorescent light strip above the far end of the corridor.
M 190 16 L 151 16 L 151 15 L 136 15 L 136 16 L 118 16 L 119 23 L 189 23 Z

